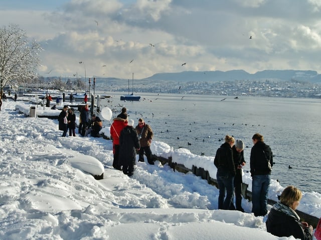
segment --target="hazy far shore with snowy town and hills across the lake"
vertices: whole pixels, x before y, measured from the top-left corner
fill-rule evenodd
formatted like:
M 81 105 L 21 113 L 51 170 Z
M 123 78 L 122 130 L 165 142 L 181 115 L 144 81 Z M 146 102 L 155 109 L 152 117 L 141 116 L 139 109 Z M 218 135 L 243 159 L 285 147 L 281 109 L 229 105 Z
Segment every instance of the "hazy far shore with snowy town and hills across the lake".
M 271 96 L 321 98 L 321 74 L 302 70 L 265 70 L 254 74 L 243 70 L 184 71 L 156 73 L 142 79 L 115 77 L 42 77 L 27 82 L 24 87 L 59 89 L 64 92 L 90 93 L 154 92 L 179 94 L 213 94 L 231 96 Z M 93 83 L 93 84 L 92 84 Z M 91 84 L 89 86 L 89 84 Z M 8 91 L 8 89 L 5 88 Z

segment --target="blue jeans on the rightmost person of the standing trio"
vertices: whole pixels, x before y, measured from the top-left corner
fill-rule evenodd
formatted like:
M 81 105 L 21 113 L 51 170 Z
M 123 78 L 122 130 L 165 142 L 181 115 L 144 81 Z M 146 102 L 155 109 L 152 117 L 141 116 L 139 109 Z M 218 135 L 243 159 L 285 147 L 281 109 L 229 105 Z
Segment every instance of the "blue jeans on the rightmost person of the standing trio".
M 267 213 L 270 179 L 270 174 L 252 176 L 252 212 L 255 216 L 264 216 Z

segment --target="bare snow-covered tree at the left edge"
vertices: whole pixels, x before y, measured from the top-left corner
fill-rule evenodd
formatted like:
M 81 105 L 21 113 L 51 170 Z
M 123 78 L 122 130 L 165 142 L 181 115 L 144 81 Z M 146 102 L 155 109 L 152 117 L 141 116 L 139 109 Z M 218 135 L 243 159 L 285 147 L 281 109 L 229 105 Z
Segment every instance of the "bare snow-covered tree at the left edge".
M 42 50 L 35 40 L 28 41 L 26 31 L 19 25 L 0 28 L 1 92 L 6 84 L 20 85 L 36 78 Z

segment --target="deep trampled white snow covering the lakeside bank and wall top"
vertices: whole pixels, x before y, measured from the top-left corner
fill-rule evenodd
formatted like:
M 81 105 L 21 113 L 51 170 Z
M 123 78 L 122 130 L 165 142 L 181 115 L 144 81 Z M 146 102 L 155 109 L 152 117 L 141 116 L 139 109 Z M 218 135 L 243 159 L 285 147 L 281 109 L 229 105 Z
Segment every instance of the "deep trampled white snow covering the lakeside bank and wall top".
M 26 117 L 17 110 L 29 108 L 29 102 L 9 98 L 0 111 L 0 239 L 294 239 L 266 232 L 266 217 L 250 213 L 246 199 L 244 213 L 218 210 L 218 189 L 191 172 L 158 161 L 137 162 L 128 177 L 112 167 L 111 140 L 61 137 L 56 119 Z M 37 114 L 44 111 L 60 112 L 39 105 Z M 102 132 L 109 135 L 110 115 L 106 118 Z M 198 162 L 216 175 L 213 156 L 173 150 L 156 140 L 151 150 L 188 168 Z M 92 176 L 101 173 L 101 180 Z M 243 181 L 251 188 L 249 173 Z M 283 189 L 272 179 L 269 198 Z M 320 216 L 320 193 L 302 193 L 297 209 Z

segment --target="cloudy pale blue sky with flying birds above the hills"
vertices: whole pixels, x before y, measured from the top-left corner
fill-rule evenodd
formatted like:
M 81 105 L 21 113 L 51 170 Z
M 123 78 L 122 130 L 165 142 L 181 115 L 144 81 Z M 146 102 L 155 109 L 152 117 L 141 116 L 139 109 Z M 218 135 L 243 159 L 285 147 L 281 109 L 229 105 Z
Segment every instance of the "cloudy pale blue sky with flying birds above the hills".
M 0 27 L 18 24 L 41 43 L 38 74 L 45 77 L 50 70 L 50 76 L 124 79 L 134 72 L 140 79 L 159 72 L 321 68 L 318 0 L 2 0 L 1 5 Z

